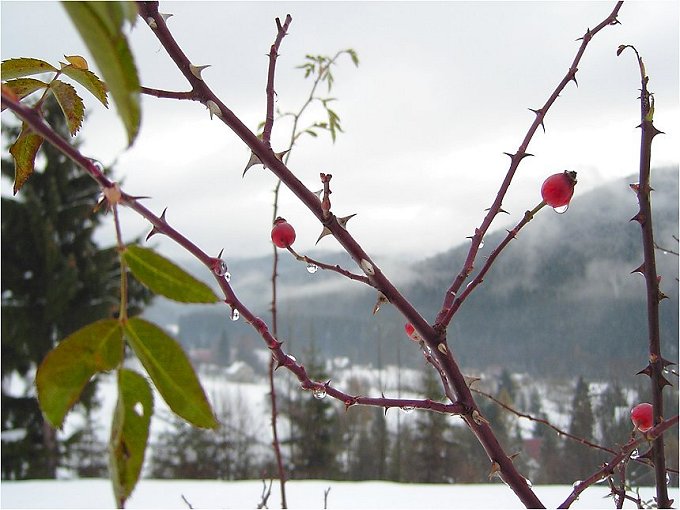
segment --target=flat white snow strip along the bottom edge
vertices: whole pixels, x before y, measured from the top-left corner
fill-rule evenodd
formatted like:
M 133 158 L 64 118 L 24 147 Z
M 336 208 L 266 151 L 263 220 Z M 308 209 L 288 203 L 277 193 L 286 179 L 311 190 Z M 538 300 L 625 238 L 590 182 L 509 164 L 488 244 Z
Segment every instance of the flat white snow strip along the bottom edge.
M 127 508 L 257 508 L 262 481 L 214 482 L 189 480 L 142 480 Z M 330 488 L 327 508 L 524 508 L 502 484 L 435 485 L 392 482 L 292 481 L 286 485 L 289 508 L 324 508 L 324 492 Z M 60 480 L 5 482 L 0 484 L 0 506 L 10 508 L 114 508 L 108 480 Z M 534 488 L 547 508 L 556 508 L 571 492 L 569 486 Z M 586 490 L 571 508 L 615 508 L 605 498 L 602 485 Z M 651 499 L 653 488 L 641 490 Z M 186 502 L 182 497 L 186 498 Z M 678 501 L 678 489 L 671 491 Z M 188 502 L 188 503 L 187 503 Z M 281 508 L 279 488 L 272 486 L 269 508 Z M 635 508 L 626 502 L 624 508 Z

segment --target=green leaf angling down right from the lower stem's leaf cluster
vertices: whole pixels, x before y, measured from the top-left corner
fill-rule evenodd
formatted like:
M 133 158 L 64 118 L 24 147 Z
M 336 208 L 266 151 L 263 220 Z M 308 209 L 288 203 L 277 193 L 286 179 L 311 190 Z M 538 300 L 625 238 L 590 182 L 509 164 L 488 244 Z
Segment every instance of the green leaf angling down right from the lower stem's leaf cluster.
M 197 427 L 217 428 L 203 387 L 179 343 L 139 317 L 125 323 L 125 336 L 170 409 Z

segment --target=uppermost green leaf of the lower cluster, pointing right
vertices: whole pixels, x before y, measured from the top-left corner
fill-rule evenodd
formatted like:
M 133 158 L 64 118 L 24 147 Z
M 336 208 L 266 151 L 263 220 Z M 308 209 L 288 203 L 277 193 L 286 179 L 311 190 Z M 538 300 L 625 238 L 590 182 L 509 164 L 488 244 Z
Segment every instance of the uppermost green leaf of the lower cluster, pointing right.
M 156 294 L 182 303 L 220 301 L 210 287 L 197 280 L 158 253 L 141 246 L 128 246 L 123 252 L 132 274 Z

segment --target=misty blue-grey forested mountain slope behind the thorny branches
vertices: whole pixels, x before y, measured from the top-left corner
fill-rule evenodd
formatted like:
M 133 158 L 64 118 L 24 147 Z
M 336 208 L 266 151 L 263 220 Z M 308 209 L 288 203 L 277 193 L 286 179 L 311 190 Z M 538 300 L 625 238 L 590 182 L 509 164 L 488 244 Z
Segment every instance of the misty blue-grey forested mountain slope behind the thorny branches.
M 537 374 L 574 376 L 576 370 L 594 377 L 644 367 L 645 284 L 641 275 L 631 274 L 643 260 L 641 229 L 629 221 L 637 212 L 630 182 L 615 181 L 582 195 L 577 191 L 566 214 L 540 211 L 508 245 L 449 328 L 449 344 L 465 369 L 499 365 Z M 655 239 L 677 252 L 677 167 L 654 171 L 653 186 Z M 475 270 L 505 234 L 501 229 L 486 236 Z M 416 263 L 380 256 L 374 260 L 433 320 L 468 247 L 469 241 Z M 313 343 L 323 356 L 347 356 L 363 364 L 423 363 L 422 354 L 406 340 L 403 318 L 389 304 L 372 315 L 374 290 L 327 271 L 309 274 L 305 264 L 282 255 L 279 337 L 298 359 L 304 359 Z M 346 254 L 309 255 L 360 272 Z M 660 305 L 663 352 L 677 360 L 678 257 L 661 250 L 656 255 L 662 291 L 669 297 Z M 265 319 L 270 316 L 271 265 L 271 257 L 261 257 L 230 261 L 229 268 L 237 294 Z M 207 270 L 196 264 L 183 267 L 209 279 Z M 147 315 L 166 326 L 177 325 L 187 347 L 219 350 L 220 360 L 243 359 L 252 355 L 253 346 L 262 346 L 247 324 L 228 320 L 224 306 L 159 300 Z

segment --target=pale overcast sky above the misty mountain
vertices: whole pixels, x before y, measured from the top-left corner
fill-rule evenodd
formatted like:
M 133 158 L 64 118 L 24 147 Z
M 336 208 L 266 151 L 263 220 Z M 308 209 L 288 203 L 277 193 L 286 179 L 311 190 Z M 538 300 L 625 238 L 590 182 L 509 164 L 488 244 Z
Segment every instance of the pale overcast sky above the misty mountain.
M 2 59 L 36 57 L 53 64 L 63 55 L 89 58 L 62 7 L 54 2 L 5 2 Z M 275 17 L 293 22 L 277 61 L 277 106 L 296 110 L 309 82 L 299 69 L 307 53 L 353 48 L 334 71 L 334 109 L 345 130 L 301 139 L 289 167 L 311 189 L 319 172 L 333 174 L 333 211 L 358 213 L 350 231 L 371 254 L 424 258 L 465 240 L 481 222 L 533 113 L 567 71 L 586 28 L 614 2 L 161 2 L 174 16 L 169 27 L 206 82 L 255 130 L 265 114 L 268 52 Z M 647 65 L 656 97 L 655 124 L 666 132 L 654 142 L 653 164 L 677 164 L 678 2 L 626 2 L 621 25 L 604 29 L 529 146 L 494 228 L 516 223 L 540 201 L 540 185 L 564 169 L 578 172 L 577 193 L 637 171 L 639 71 L 634 44 Z M 130 40 L 143 85 L 186 90 L 181 74 L 144 23 Z M 82 90 L 82 89 L 81 89 Z M 325 90 L 321 90 L 325 93 Z M 261 167 L 241 173 L 249 150 L 199 103 L 143 98 L 140 135 L 126 138 L 112 109 L 85 91 L 90 116 L 82 151 L 105 164 L 132 195 L 150 195 L 148 207 L 208 253 L 230 257 L 271 252 L 274 177 Z M 5 112 L 2 121 L 11 114 Z M 316 110 L 308 121 L 322 120 Z M 274 126 L 282 148 L 290 124 Z M 3 181 L 3 193 L 11 185 Z M 631 200 L 634 196 L 631 194 Z M 289 192 L 280 213 L 296 228 L 296 248 L 313 247 L 320 226 Z M 542 214 L 553 214 L 545 211 Z M 568 214 L 568 213 L 567 213 Z M 124 212 L 128 237 L 149 228 Z M 113 242 L 112 229 L 100 233 Z M 157 239 L 158 236 L 154 239 Z M 170 256 L 181 253 L 158 240 Z M 319 246 L 337 249 L 324 239 Z

